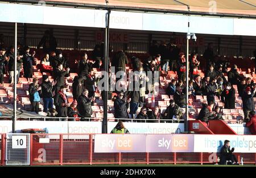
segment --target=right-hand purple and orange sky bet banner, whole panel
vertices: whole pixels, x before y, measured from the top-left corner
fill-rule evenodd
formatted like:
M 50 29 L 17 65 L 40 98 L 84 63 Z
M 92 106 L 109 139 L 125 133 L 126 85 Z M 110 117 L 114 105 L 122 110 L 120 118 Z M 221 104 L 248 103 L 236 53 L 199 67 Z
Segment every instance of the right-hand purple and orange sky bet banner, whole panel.
M 193 135 L 147 135 L 146 152 L 193 152 Z

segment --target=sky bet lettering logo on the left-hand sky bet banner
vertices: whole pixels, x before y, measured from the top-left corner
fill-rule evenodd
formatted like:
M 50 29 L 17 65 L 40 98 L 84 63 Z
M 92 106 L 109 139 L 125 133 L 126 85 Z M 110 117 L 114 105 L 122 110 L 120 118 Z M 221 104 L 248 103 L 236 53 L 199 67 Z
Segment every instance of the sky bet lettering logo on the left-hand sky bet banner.
M 102 140 L 102 147 L 110 148 L 111 150 L 133 150 L 133 140 L 129 136 L 117 137 L 115 139 Z

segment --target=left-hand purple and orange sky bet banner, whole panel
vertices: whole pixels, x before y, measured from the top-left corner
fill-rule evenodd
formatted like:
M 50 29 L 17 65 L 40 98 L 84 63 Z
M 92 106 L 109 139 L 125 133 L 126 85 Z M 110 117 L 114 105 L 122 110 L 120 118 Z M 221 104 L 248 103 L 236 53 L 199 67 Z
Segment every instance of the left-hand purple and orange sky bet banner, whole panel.
M 146 152 L 144 134 L 97 134 L 94 152 Z

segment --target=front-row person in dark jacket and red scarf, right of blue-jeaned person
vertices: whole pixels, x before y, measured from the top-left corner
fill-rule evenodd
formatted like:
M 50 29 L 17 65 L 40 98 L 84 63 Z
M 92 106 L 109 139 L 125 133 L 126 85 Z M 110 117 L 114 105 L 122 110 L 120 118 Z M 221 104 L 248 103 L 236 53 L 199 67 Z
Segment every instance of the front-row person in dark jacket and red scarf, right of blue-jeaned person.
M 68 98 L 65 95 L 66 88 L 65 86 L 60 86 L 59 92 L 55 93 L 54 104 L 57 110 L 57 117 L 68 117 Z M 62 121 L 66 121 L 67 119 L 61 119 Z

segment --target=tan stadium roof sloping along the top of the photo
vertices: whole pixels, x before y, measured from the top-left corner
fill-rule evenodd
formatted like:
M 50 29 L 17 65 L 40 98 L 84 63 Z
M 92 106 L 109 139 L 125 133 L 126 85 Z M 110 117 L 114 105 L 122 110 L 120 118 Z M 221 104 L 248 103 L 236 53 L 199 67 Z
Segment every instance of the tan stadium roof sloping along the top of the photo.
M 255 0 L 44 0 L 46 2 L 80 3 L 84 5 L 100 5 L 115 8 L 128 7 L 130 9 L 168 10 L 168 11 L 188 11 L 191 13 L 212 14 L 236 14 L 236 15 L 256 15 Z M 216 3 L 216 4 L 215 4 Z M 215 8 L 216 7 L 216 8 Z M 216 11 L 215 11 L 216 10 Z

